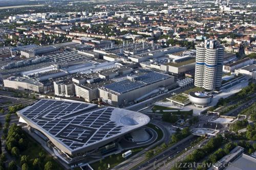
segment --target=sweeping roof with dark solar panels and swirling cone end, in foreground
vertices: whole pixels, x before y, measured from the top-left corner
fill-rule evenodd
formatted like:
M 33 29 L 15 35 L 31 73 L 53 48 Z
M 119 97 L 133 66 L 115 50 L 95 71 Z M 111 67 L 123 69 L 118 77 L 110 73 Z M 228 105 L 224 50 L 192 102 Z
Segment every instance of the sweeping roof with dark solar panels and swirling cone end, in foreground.
M 149 122 L 138 112 L 95 104 L 42 99 L 17 112 L 31 127 L 44 133 L 56 146 L 72 154 L 100 141 L 127 133 Z M 135 119 L 129 124 L 123 119 Z M 61 147 L 61 149 L 63 149 Z

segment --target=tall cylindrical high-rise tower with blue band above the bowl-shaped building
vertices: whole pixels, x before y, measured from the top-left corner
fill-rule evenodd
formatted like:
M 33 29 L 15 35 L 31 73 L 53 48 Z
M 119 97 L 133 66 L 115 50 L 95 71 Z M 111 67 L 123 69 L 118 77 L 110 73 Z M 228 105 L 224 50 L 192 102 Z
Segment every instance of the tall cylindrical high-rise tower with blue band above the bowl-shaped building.
M 224 47 L 217 40 L 197 46 L 195 86 L 208 90 L 221 87 Z

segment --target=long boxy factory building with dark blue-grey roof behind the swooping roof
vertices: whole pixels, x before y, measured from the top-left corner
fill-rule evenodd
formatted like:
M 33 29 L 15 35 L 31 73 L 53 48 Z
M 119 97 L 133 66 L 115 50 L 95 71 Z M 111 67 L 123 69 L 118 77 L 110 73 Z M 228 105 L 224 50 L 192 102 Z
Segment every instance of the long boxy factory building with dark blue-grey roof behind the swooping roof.
M 166 87 L 172 85 L 173 76 L 148 72 L 139 76 L 127 76 L 127 80 L 102 86 L 99 88 L 99 98 L 112 106 L 122 107 L 162 93 L 167 90 Z

